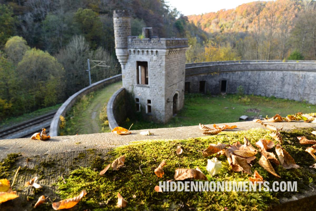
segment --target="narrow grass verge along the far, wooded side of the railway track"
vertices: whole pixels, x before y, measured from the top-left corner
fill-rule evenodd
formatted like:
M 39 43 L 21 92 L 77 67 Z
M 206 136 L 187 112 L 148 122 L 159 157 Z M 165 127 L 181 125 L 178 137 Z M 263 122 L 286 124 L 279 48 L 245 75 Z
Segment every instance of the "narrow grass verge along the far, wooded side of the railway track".
M 58 108 L 61 105 L 62 104 L 57 104 L 54 106 L 50 106 L 47 108 L 42 108 L 42 109 L 36 110 L 34 112 L 31 112 L 31 113 L 26 113 L 26 114 L 23 114 L 23 115 L 18 116 L 18 117 L 10 117 L 10 118 L 4 119 L 3 121 L 0 122 L 0 127 L 8 127 L 10 125 L 18 124 L 20 122 L 23 122 L 23 121 L 44 115 L 46 113 L 52 112 L 53 110 L 58 110 Z

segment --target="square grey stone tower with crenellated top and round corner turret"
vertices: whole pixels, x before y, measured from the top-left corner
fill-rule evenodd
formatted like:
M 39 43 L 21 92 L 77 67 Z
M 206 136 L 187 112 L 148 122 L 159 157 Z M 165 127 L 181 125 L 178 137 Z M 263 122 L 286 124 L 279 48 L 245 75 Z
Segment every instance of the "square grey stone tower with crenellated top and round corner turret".
M 167 123 L 184 105 L 185 38 L 158 38 L 151 27 L 143 38 L 131 36 L 126 10 L 113 13 L 115 52 L 122 67 L 123 87 L 135 97 L 136 112 Z

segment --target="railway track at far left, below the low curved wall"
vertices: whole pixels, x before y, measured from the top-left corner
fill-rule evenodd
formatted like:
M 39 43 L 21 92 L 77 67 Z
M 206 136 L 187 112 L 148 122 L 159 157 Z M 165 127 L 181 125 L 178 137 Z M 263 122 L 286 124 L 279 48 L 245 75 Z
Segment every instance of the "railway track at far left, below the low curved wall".
M 36 118 L 15 124 L 6 128 L 0 129 L 1 139 L 12 138 L 26 138 L 31 137 L 36 132 L 41 132 L 42 128 L 46 128 L 47 134 L 49 133 L 49 127 L 52 119 L 57 110 L 49 112 L 47 114 L 38 116 Z

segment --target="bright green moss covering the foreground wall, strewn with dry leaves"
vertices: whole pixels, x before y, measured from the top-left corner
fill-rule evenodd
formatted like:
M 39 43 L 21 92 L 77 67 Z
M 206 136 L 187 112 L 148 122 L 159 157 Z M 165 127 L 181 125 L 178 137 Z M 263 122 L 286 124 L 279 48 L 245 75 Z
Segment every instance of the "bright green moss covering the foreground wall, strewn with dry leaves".
M 297 164 L 302 168 L 284 169 L 274 166 L 281 179 L 275 178 L 266 172 L 259 164 L 260 154 L 252 166 L 252 172 L 257 170 L 263 178 L 270 183 L 273 181 L 298 181 L 298 191 L 304 190 L 308 184 L 315 184 L 316 170 L 308 166 L 314 163 L 312 157 L 304 152 L 306 146 L 298 143 L 296 136 L 309 136 L 312 129 L 292 130 L 282 132 L 285 140 L 283 147 L 293 156 Z M 269 132 L 264 129 L 252 129 L 240 132 L 222 132 L 216 136 L 207 136 L 188 140 L 156 140 L 133 142 L 130 145 L 113 149 L 106 155 L 96 156 L 90 161 L 90 167 L 80 167 L 68 175 L 66 184 L 62 180 L 58 182 L 58 194 L 61 198 L 76 196 L 82 190 L 88 195 L 79 203 L 79 208 L 93 208 L 93 210 L 113 210 L 117 202 L 117 193 L 128 201 L 125 210 L 266 210 L 272 203 L 278 202 L 278 196 L 288 196 L 292 193 L 275 192 L 167 192 L 157 193 L 154 190 L 159 181 L 173 179 L 176 168 L 200 167 L 210 181 L 248 181 L 249 175 L 234 172 L 228 165 L 226 156 L 218 159 L 222 162 L 222 170 L 214 177 L 206 171 L 207 158 L 201 152 L 210 143 L 243 142 L 247 136 L 252 145 L 260 138 L 270 139 Z M 181 145 L 184 151 L 181 155 L 175 153 L 177 146 Z M 271 149 L 274 151 L 275 149 Z M 115 158 L 125 155 L 125 166 L 119 171 L 111 168 L 104 177 L 99 171 Z M 208 157 L 211 159 L 213 156 Z M 166 160 L 164 166 L 165 175 L 158 178 L 154 169 L 162 160 Z M 274 165 L 274 164 L 273 164 Z M 141 167 L 143 174 L 139 168 Z M 98 170 L 96 171 L 95 168 Z M 136 198 L 133 195 L 136 195 Z

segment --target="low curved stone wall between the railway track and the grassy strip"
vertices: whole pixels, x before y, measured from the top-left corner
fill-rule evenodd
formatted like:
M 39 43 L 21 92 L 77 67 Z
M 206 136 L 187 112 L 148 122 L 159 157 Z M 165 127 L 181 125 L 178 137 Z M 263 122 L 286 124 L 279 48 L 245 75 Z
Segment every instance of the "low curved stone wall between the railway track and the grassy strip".
M 97 81 L 93 84 L 91 84 L 88 87 L 85 87 L 83 89 L 81 89 L 80 91 L 74 93 L 73 95 L 71 95 L 64 103 L 63 105 L 60 106 L 60 108 L 58 109 L 58 111 L 56 112 L 51 126 L 49 128 L 49 135 L 50 136 L 58 136 L 58 129 L 59 129 L 59 116 L 65 116 L 66 112 L 70 110 L 70 108 L 72 107 L 72 105 L 75 104 L 76 100 L 79 99 L 80 97 L 82 97 L 85 94 L 88 94 L 90 92 L 93 92 L 101 87 L 104 87 L 106 85 L 115 83 L 117 81 L 122 80 L 122 74 L 119 75 L 115 75 L 112 76 L 110 78 L 106 78 L 104 80 L 101 81 Z

